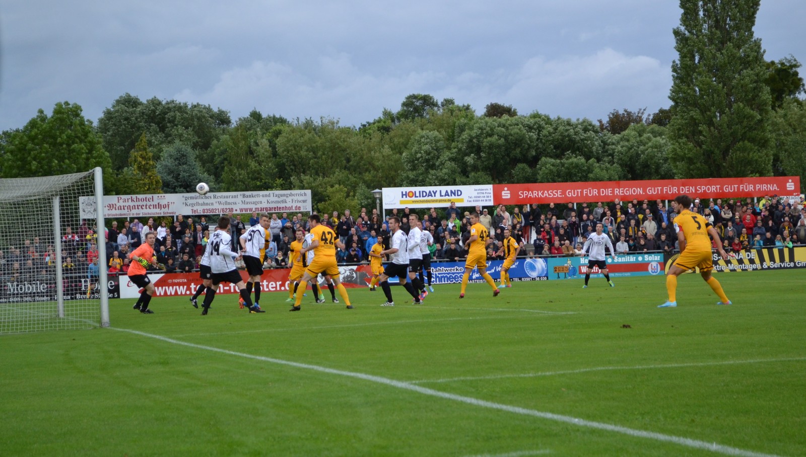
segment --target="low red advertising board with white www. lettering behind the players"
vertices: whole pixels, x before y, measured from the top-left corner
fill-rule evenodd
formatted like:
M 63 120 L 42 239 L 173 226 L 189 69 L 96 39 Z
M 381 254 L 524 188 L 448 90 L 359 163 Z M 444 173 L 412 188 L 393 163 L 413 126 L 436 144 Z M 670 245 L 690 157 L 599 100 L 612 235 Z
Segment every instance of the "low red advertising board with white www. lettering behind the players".
M 264 270 L 263 275 L 260 277 L 260 290 L 262 292 L 288 292 L 290 272 L 291 270 L 288 268 Z M 247 272 L 241 271 L 240 274 L 243 281 L 246 282 Z M 368 286 L 369 280 L 372 278 L 372 270 L 368 265 L 340 266 L 339 276 L 345 287 Z M 156 297 L 193 295 L 196 287 L 202 283 L 198 273 L 157 273 L 149 274 L 148 278 L 151 278 L 154 283 Z M 319 279 L 324 284 L 322 277 Z M 137 298 L 139 297 L 137 290 L 138 286 L 135 286 L 127 276 L 120 277 L 121 298 Z M 238 292 L 235 284 L 229 283 L 219 285 L 217 290 L 218 294 L 237 294 Z

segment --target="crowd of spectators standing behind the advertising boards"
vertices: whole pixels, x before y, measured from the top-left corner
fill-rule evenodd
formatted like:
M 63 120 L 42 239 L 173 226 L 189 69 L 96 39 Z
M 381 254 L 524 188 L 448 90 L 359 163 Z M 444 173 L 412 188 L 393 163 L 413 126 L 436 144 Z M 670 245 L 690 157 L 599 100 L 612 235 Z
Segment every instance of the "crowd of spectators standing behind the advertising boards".
M 611 237 L 620 254 L 673 253 L 678 248 L 675 212 L 662 200 L 465 209 L 451 204 L 439 211 L 437 208 L 418 211 L 423 230 L 434 238 L 434 243 L 428 247 L 434 260 L 460 261 L 466 256 L 464 245 L 470 237 L 470 211 L 480 214 L 480 224 L 488 229 L 493 240 L 488 249 L 490 259 L 502 258 L 500 248 L 505 229 L 510 230 L 521 246 L 521 255 L 581 255 L 584 242 L 596 231 L 597 223 L 603 224 L 603 232 Z M 753 199 L 697 199 L 691 210 L 713 224 L 725 250 L 784 248 L 803 245 L 806 240 L 806 208 L 802 200 L 791 202 L 778 196 L 765 196 L 757 202 Z M 408 233 L 409 214 L 409 208 L 393 209 L 385 216 L 380 216 L 376 209 L 368 212 L 366 208 L 361 208 L 355 216 L 350 210 L 334 211 L 322 215 L 322 224 L 334 229 L 344 245 L 337 251 L 339 264 L 355 264 L 369 261 L 368 252 L 379 239 L 388 246 L 389 216 L 399 216 L 401 229 Z M 237 215 L 231 220 L 233 249 L 239 249 L 235 243 L 248 227 L 257 224 L 258 215 L 252 213 L 247 222 Z M 307 218 L 302 213 L 271 215 L 271 241 L 266 249 L 264 268 L 289 266 L 289 246 L 299 227 L 308 229 Z M 100 259 L 98 237 L 93 229 L 82 221 L 75 231 L 66 227 L 60 239 L 64 280 L 71 286 L 83 278 L 97 278 L 99 268 L 106 268 L 110 274 L 126 274 L 128 254 L 143 243 L 149 232 L 156 233 L 156 260 L 152 270 L 161 270 L 164 266 L 170 273 L 197 271 L 210 238 L 210 224 L 205 216 L 195 220 L 177 215 L 159 223 L 147 218 L 145 224 L 137 218 L 121 223 L 113 221 L 106 228 L 106 258 Z M 56 261 L 52 239 L 26 239 L 20 246 L 9 246 L 5 252 L 0 250 L 0 280 L 3 283 L 54 282 Z

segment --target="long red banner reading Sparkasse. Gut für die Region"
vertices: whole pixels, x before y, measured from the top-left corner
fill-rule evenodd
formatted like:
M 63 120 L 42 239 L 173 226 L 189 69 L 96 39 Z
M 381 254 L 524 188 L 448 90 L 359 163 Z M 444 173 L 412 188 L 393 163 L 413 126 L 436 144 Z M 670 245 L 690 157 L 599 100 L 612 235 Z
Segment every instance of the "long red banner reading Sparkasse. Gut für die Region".
M 588 183 L 494 184 L 495 204 L 581 203 L 613 200 L 792 196 L 800 194 L 799 176 L 763 178 L 652 179 Z

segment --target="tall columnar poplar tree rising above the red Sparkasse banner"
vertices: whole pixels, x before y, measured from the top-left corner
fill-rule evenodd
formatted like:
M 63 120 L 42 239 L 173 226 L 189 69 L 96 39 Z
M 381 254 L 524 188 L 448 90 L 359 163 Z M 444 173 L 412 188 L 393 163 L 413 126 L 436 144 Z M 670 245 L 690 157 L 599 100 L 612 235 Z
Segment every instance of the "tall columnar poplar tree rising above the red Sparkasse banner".
M 680 0 L 669 158 L 679 178 L 771 175 L 767 63 L 753 27 L 760 0 Z

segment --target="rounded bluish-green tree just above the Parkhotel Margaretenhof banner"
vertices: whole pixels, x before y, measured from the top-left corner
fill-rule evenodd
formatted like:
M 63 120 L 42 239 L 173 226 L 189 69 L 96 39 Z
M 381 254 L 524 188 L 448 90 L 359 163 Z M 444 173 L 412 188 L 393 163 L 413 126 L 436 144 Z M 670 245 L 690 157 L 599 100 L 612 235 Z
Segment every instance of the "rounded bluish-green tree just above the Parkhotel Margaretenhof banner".
M 208 183 L 214 188 L 210 175 L 202 171 L 197 152 L 181 142 L 174 142 L 163 150 L 162 158 L 156 164 L 156 171 L 162 178 L 162 190 L 167 194 L 191 192 L 197 183 Z

